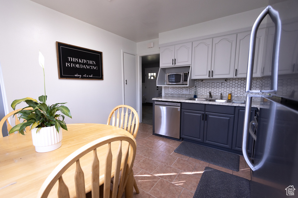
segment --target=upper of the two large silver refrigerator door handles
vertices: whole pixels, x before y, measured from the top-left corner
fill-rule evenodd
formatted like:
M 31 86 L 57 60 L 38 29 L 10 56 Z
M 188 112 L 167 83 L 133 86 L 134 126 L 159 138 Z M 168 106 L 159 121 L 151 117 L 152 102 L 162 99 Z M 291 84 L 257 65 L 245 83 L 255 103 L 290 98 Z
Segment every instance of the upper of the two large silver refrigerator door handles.
M 269 15 L 275 25 L 274 42 L 273 42 L 273 54 L 272 54 L 272 65 L 271 65 L 271 90 L 252 90 L 252 74 L 253 74 L 253 64 L 254 64 L 254 51 L 256 47 L 257 30 L 260 23 Z M 280 45 L 280 33 L 281 33 L 281 21 L 278 12 L 273 9 L 270 5 L 267 6 L 261 14 L 258 16 L 257 20 L 252 26 L 252 33 L 249 42 L 249 57 L 248 57 L 248 67 L 247 67 L 247 80 L 246 80 L 246 92 L 247 93 L 271 93 L 277 92 L 277 70 L 278 70 L 278 54 Z

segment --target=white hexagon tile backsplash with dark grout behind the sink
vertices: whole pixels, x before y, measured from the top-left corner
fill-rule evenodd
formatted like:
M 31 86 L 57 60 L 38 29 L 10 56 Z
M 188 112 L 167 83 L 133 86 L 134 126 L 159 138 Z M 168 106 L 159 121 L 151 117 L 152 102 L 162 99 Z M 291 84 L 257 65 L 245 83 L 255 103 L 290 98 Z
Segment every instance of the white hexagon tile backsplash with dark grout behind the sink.
M 263 84 L 262 78 L 253 78 L 252 80 L 252 89 L 260 89 L 261 85 Z M 205 83 L 201 82 L 200 80 L 195 80 L 195 86 L 197 86 L 197 95 L 209 95 L 209 91 L 211 91 L 212 96 L 219 96 L 221 93 L 224 97 L 227 96 L 229 93 L 232 93 L 232 96 L 246 96 L 246 78 L 228 78 L 227 81 L 223 83 Z M 193 95 L 195 86 L 165 86 L 164 95 L 177 96 L 179 94 L 182 94 L 188 97 L 187 95 Z

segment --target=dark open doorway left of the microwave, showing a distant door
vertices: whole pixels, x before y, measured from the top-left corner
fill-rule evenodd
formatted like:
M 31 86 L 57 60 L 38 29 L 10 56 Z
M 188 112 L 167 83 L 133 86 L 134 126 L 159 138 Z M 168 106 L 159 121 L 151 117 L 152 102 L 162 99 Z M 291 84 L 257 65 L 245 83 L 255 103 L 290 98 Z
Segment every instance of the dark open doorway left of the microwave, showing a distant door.
M 153 125 L 152 98 L 162 96 L 162 87 L 156 86 L 159 54 L 142 56 L 142 123 Z

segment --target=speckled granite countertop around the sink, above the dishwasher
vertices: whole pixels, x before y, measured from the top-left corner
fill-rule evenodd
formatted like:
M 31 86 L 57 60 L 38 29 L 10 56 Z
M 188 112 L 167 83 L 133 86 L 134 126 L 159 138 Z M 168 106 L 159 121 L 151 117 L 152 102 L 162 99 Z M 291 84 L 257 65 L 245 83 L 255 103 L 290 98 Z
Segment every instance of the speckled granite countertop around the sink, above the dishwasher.
M 245 107 L 245 103 L 235 103 L 235 102 L 208 102 L 208 101 L 195 101 L 195 100 L 185 100 L 190 97 L 173 97 L 173 96 L 162 96 L 157 98 L 152 98 L 152 100 L 156 101 L 169 101 L 169 102 L 189 102 L 189 103 L 200 103 L 200 104 L 215 104 L 215 105 L 226 105 L 226 106 L 237 106 L 237 107 Z M 204 97 L 207 98 L 207 97 Z M 243 97 L 239 98 L 243 100 Z M 233 100 L 239 100 L 238 98 L 232 98 Z M 244 100 L 243 100 L 244 101 Z M 260 100 L 253 100 L 252 107 L 259 107 Z

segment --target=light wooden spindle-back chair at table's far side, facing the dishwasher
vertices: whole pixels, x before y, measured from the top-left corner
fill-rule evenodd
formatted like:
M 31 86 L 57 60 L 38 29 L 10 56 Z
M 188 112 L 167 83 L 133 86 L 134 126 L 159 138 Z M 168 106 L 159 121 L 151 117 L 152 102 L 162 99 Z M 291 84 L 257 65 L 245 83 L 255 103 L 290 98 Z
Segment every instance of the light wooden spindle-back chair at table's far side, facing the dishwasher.
M 115 116 L 116 111 L 117 111 L 117 118 Z M 120 111 L 121 111 L 121 116 L 120 116 Z M 125 114 L 125 117 L 124 117 L 124 114 Z M 128 118 L 128 114 L 130 114 L 129 118 Z M 112 121 L 111 121 L 111 118 L 112 118 Z M 134 110 L 134 108 L 124 104 L 118 105 L 111 111 L 108 117 L 107 125 L 117 126 L 122 129 L 125 129 L 126 131 L 130 132 L 134 136 L 134 138 L 136 138 L 136 134 L 138 133 L 138 129 L 139 129 L 139 116 L 136 113 L 136 110 Z M 139 194 L 139 188 L 136 185 L 135 179 L 134 179 L 134 189 L 136 190 L 136 193 Z

